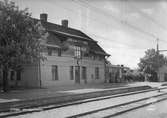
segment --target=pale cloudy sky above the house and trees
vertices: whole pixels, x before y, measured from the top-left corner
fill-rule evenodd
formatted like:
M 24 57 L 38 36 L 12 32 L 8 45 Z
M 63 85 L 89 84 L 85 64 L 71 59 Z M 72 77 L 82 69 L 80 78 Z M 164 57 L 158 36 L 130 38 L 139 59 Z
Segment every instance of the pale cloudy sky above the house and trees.
M 150 48 L 167 49 L 167 1 L 165 0 L 12 0 L 32 17 L 48 14 L 48 21 L 69 20 L 111 56 L 114 65 L 137 68 Z M 167 56 L 167 52 L 163 52 Z

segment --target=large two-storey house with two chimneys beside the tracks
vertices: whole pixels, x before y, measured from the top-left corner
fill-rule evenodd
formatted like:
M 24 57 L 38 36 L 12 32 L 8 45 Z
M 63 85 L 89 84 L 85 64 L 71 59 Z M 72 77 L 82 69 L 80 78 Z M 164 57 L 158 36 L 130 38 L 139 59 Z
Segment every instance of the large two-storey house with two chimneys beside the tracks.
M 24 65 L 22 72 L 11 71 L 11 86 L 48 87 L 72 84 L 102 83 L 105 81 L 105 57 L 109 56 L 97 43 L 83 32 L 68 27 L 68 20 L 62 24 L 47 21 L 47 14 L 41 14 L 41 23 L 47 31 L 42 45 L 46 60 Z

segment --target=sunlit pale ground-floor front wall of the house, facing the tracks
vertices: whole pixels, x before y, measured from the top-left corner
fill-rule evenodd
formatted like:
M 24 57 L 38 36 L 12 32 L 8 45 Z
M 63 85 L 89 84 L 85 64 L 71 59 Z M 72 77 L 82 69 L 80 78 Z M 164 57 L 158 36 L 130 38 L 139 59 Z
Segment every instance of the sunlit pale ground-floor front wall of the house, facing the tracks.
M 52 80 L 52 65 L 58 66 L 59 80 Z M 87 83 L 104 82 L 104 62 L 91 59 L 82 59 L 79 61 L 80 66 L 87 68 Z M 70 56 L 47 56 L 47 60 L 41 62 L 41 80 L 42 86 L 61 86 L 75 84 L 75 80 L 70 80 L 70 66 L 77 66 L 77 61 Z M 99 67 L 99 79 L 95 79 L 95 67 Z M 74 69 L 75 70 L 75 69 Z M 80 69 L 82 73 L 82 70 Z M 92 78 L 93 74 L 93 78 Z M 75 72 L 74 72 L 75 76 Z M 81 76 L 81 75 L 80 75 Z M 84 80 L 80 77 L 80 84 Z

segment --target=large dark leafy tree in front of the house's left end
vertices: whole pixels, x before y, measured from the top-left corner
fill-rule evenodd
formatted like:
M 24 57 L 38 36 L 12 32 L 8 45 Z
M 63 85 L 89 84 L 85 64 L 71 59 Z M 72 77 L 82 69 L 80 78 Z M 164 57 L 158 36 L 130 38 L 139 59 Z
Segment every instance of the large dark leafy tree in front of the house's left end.
M 0 1 L 0 68 L 3 90 L 8 88 L 8 71 L 18 71 L 23 64 L 42 59 L 40 42 L 43 32 L 27 9 L 20 10 L 14 2 Z

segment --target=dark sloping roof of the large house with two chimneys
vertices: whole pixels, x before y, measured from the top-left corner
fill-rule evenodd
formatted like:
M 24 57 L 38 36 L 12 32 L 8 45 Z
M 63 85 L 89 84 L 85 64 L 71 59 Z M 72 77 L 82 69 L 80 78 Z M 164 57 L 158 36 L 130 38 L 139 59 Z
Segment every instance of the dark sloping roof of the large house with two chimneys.
M 34 19 L 35 21 L 40 21 L 38 19 Z M 95 54 L 106 55 L 109 56 L 98 44 L 97 41 L 93 40 L 85 33 L 80 30 L 64 27 L 62 25 L 50 23 L 50 22 L 41 22 L 42 26 L 49 32 L 52 32 L 57 35 L 61 35 L 63 37 L 71 37 L 78 40 L 85 40 L 88 41 L 88 45 L 91 47 L 90 51 L 94 52 Z

